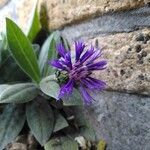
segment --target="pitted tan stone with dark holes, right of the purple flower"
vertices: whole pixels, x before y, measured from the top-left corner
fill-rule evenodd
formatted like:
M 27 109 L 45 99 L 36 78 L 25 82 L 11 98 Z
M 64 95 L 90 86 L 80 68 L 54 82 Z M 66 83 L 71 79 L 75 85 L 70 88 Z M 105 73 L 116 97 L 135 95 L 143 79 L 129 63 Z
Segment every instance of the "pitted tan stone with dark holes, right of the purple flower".
M 97 37 L 94 43 L 108 60 L 107 70 L 95 76 L 105 80 L 108 89 L 150 95 L 150 30 Z

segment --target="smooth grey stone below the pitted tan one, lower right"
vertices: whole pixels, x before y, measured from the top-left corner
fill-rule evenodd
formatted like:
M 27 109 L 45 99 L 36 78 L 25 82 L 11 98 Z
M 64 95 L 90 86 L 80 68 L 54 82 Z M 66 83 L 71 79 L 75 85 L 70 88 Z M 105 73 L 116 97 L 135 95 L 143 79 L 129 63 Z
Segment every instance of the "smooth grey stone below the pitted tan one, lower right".
M 107 150 L 150 150 L 150 97 L 103 92 L 95 99 L 87 116 Z

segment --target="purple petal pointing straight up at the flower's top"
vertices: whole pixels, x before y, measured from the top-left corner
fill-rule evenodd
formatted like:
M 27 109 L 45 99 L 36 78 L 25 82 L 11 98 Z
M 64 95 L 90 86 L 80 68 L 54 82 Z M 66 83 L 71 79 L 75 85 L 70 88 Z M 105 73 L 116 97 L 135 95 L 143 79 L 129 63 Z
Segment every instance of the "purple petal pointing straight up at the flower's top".
M 76 62 L 79 60 L 84 48 L 85 44 L 82 41 L 75 42 Z

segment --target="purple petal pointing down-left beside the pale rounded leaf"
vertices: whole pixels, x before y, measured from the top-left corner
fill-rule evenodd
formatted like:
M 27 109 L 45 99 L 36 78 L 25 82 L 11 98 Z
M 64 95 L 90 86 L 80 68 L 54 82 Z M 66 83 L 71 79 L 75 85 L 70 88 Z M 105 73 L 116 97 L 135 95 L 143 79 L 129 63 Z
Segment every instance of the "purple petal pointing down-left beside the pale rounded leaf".
M 73 91 L 73 86 L 74 86 L 73 80 L 69 80 L 67 84 L 63 85 L 60 88 L 59 98 L 71 94 Z

